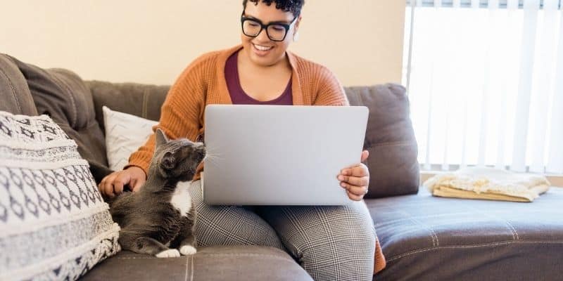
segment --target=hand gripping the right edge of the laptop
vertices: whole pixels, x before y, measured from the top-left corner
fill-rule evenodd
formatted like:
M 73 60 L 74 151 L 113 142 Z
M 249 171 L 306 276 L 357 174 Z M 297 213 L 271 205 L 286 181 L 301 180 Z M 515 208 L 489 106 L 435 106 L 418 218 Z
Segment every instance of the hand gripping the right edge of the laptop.
M 364 162 L 369 156 L 367 150 L 362 151 L 360 162 Z M 346 193 L 351 200 L 360 201 L 367 194 L 369 185 L 369 171 L 363 163 L 355 164 L 342 169 L 338 176 L 340 186 L 346 189 Z

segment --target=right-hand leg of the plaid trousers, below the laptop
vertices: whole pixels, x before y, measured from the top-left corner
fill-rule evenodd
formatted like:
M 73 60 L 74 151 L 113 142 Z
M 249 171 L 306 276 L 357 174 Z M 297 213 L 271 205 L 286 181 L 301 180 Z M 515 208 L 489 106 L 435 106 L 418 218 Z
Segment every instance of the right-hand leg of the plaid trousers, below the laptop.
M 314 280 L 372 280 L 375 230 L 364 202 L 261 211 Z

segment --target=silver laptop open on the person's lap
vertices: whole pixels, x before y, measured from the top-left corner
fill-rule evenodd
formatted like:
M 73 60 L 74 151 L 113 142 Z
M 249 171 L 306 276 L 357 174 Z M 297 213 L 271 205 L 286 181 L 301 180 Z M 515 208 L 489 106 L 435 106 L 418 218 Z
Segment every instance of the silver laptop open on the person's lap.
M 203 201 L 350 203 L 336 176 L 360 162 L 367 115 L 363 106 L 208 105 Z

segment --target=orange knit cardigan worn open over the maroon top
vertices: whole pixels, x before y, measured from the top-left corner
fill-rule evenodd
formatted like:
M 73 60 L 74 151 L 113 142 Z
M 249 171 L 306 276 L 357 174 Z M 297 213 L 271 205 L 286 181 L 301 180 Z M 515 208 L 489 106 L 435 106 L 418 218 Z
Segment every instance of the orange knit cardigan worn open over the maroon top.
M 170 88 L 160 113 L 160 122 L 153 130 L 159 128 L 171 139 L 188 138 L 192 141 L 203 134 L 205 105 L 232 104 L 224 77 L 224 65 L 227 58 L 241 48 L 239 45 L 206 53 L 194 60 Z M 327 67 L 289 52 L 287 57 L 292 68 L 293 105 L 348 105 L 343 87 Z M 139 166 L 146 173 L 154 147 L 153 135 L 129 157 L 127 166 Z M 199 173 L 194 179 L 198 178 Z M 384 267 L 385 259 L 376 239 L 374 272 Z

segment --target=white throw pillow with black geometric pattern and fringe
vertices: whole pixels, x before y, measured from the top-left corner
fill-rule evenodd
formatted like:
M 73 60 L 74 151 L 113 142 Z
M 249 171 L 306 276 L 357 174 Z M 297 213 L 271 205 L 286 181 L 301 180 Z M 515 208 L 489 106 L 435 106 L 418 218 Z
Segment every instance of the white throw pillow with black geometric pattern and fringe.
M 0 280 L 76 280 L 120 250 L 118 231 L 75 141 L 0 111 Z

